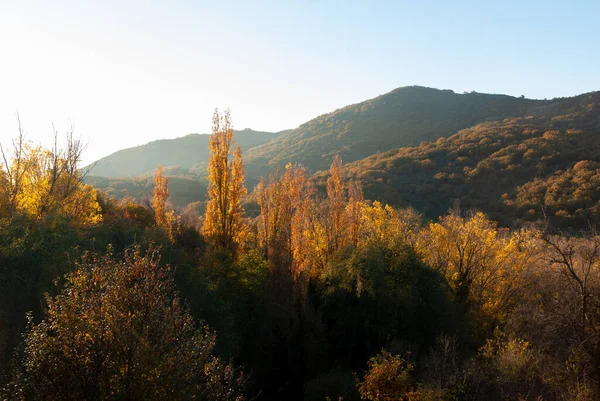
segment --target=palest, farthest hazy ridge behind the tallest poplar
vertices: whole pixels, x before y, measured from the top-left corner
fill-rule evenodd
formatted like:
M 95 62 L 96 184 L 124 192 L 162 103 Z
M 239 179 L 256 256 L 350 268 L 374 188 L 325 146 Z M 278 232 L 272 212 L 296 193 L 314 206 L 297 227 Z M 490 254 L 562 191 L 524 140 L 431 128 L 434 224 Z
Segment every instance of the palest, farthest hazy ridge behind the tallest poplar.
M 235 132 L 235 141 L 243 151 L 247 151 L 277 136 L 275 133 L 245 129 Z M 196 167 L 198 173 L 203 174 L 207 162 L 208 135 L 190 134 L 120 150 L 98 160 L 89 174 L 99 177 L 135 177 L 153 172 L 160 165 L 183 169 Z

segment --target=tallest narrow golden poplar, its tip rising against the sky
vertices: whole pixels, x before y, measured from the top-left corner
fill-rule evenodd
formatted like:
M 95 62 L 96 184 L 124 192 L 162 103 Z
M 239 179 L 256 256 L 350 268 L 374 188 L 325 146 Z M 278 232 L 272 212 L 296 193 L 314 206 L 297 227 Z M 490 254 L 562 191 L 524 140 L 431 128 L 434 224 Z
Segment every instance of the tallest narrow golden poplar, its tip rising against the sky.
M 215 110 L 209 140 L 209 200 L 202 234 L 213 246 L 229 250 L 234 250 L 244 232 L 242 197 L 246 194 L 242 151 L 238 147 L 232 152 L 233 146 L 230 112 L 227 110 L 221 116 Z

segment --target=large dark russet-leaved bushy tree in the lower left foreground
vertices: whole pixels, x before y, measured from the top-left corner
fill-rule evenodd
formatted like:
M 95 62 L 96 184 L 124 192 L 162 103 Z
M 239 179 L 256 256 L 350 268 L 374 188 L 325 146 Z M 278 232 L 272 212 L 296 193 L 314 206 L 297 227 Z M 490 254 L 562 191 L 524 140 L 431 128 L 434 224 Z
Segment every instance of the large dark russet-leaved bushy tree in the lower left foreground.
M 212 355 L 155 250 L 87 257 L 30 326 L 13 396 L 40 400 L 242 400 L 242 378 Z

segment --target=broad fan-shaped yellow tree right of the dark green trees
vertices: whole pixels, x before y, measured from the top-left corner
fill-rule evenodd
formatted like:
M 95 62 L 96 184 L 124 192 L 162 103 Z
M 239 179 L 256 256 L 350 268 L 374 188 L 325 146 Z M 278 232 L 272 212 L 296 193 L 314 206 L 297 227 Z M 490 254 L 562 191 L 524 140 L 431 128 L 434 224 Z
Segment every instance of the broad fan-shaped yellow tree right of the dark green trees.
M 537 236 L 531 230 L 509 235 L 483 213 L 452 214 L 422 230 L 417 247 L 425 262 L 446 277 L 459 302 L 497 322 L 528 281 Z

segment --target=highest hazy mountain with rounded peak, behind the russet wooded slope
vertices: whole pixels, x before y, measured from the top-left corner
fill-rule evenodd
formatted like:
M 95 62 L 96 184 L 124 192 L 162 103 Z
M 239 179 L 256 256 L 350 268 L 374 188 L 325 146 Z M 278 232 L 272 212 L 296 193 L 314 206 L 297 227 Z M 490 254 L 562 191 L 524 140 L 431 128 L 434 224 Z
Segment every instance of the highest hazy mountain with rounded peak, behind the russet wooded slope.
M 410 86 L 322 115 L 245 154 L 250 174 L 288 161 L 326 169 L 335 154 L 355 161 L 415 146 L 485 121 L 539 112 L 552 102 Z M 261 166 L 263 170 L 253 170 Z

